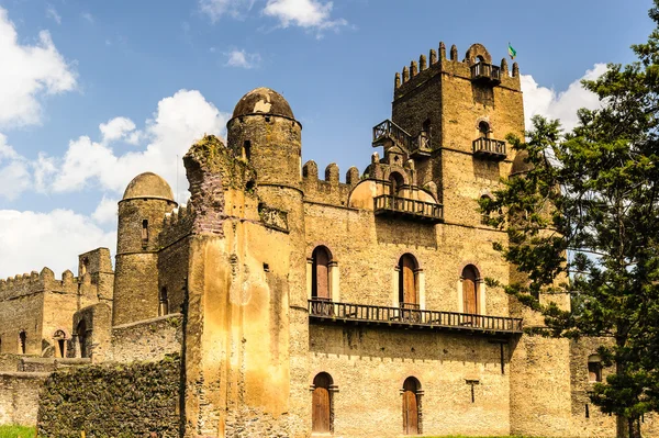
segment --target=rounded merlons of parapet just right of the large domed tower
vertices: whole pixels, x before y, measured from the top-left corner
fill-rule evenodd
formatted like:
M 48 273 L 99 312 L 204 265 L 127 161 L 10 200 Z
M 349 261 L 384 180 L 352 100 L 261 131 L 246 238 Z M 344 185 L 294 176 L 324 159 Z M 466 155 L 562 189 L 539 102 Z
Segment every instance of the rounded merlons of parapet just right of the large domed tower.
M 350 190 L 360 181 L 359 169 L 350 167 L 346 172 L 346 182 L 339 181 L 340 171 L 335 162 L 325 168 L 325 178 L 319 179 L 319 166 L 309 160 L 302 167 L 304 199 L 324 204 L 347 205 Z

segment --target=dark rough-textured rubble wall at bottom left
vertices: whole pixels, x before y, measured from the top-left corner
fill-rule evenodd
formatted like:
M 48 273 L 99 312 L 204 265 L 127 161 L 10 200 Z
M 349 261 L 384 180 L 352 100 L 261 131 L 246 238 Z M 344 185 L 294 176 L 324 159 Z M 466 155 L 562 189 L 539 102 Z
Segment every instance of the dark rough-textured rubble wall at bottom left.
M 180 357 L 55 371 L 38 407 L 40 437 L 179 437 Z

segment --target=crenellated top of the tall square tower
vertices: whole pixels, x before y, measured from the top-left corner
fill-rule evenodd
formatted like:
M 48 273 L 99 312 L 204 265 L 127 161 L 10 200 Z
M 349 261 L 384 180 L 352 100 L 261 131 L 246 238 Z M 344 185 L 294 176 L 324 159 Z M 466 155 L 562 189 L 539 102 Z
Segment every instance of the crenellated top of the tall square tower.
M 447 58 L 446 46 L 440 42 L 438 50 L 431 49 L 428 57 L 420 55 L 418 61 L 412 60 L 409 67 L 403 67 L 402 72 L 395 74 L 394 99 L 422 86 L 438 74 L 448 74 L 472 81 L 489 79 L 493 86 L 520 89 L 517 63 L 513 63 L 512 72 L 509 71 L 505 57 L 501 59 L 500 65 L 494 65 L 488 49 L 478 43 L 469 47 L 462 60 L 458 59 L 458 48 L 454 44 Z

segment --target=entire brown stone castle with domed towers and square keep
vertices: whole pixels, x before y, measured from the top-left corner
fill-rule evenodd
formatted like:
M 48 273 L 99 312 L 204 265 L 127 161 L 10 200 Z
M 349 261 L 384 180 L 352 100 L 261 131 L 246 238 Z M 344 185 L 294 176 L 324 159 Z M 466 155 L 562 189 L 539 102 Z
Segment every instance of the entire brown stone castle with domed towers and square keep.
M 152 436 L 615 435 L 588 398 L 603 340 L 525 335 L 543 319 L 484 282 L 518 279 L 477 204 L 528 170 L 504 141 L 524 134 L 516 63 L 443 43 L 412 61 L 345 182 L 302 165 L 301 130 L 282 96 L 248 92 L 226 144 L 183 157 L 187 205 L 154 173 L 131 181 L 114 270 L 99 248 L 77 277 L 0 281 L 0 422 L 34 423 L 41 404 L 40 431 L 64 427 L 57 409 L 85 396 L 48 402 L 49 373 L 174 353 L 180 391 Z

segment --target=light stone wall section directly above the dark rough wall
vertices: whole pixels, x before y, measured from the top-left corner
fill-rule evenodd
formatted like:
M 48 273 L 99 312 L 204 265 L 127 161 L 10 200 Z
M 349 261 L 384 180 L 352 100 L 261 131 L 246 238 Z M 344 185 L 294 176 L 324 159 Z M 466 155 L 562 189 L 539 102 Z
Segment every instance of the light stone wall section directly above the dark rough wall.
M 112 328 L 112 356 L 115 362 L 159 360 L 180 353 L 182 316 L 178 313 Z

